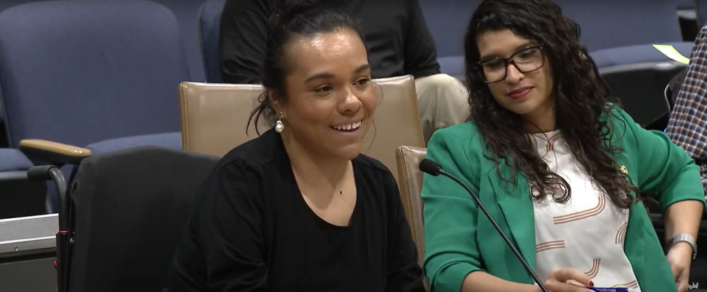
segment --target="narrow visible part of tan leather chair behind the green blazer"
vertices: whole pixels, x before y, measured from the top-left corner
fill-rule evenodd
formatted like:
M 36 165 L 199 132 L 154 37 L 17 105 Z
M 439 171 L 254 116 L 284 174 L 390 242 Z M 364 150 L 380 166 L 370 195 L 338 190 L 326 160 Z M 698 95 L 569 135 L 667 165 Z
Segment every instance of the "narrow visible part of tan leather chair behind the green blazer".
M 417 247 L 417 257 L 420 267 L 423 266 L 425 259 L 425 230 L 422 221 L 422 172 L 418 168 L 420 161 L 425 159 L 427 154 L 426 148 L 414 146 L 401 146 L 395 151 L 395 160 L 397 162 L 398 176 L 400 177 L 400 197 L 402 199 L 403 208 L 405 209 L 405 217 L 410 225 L 412 238 Z M 429 286 L 425 279 L 425 286 Z

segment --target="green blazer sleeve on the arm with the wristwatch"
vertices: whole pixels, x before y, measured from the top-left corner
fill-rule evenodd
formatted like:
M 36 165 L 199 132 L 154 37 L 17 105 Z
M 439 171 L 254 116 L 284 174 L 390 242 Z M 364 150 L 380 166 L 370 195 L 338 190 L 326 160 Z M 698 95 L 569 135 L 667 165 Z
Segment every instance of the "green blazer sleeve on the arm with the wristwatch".
M 636 178 L 641 193 L 657 199 L 663 212 L 671 204 L 685 200 L 704 204 L 700 168 L 682 147 L 673 144 L 663 132 L 643 129 L 624 110 L 617 112 L 626 121 L 626 134 L 636 138 Z

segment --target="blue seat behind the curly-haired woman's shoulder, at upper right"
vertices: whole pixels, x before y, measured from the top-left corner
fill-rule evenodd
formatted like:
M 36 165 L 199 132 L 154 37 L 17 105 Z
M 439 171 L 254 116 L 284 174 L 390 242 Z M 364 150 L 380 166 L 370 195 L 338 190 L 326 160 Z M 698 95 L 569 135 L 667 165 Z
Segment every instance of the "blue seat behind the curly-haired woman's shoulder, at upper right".
M 650 124 L 669 111 L 663 89 L 685 64 L 653 45 L 672 45 L 685 56 L 692 49 L 692 42 L 682 41 L 675 0 L 554 1 L 580 25 L 580 40 L 638 124 Z

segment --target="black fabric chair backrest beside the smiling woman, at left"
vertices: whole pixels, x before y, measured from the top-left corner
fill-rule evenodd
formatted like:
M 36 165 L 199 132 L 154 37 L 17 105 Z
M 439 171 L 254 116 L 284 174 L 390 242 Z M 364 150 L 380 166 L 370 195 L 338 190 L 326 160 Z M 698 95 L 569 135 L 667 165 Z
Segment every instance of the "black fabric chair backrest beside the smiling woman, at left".
M 142 146 L 83 160 L 71 187 L 69 291 L 162 291 L 198 189 L 218 159 Z

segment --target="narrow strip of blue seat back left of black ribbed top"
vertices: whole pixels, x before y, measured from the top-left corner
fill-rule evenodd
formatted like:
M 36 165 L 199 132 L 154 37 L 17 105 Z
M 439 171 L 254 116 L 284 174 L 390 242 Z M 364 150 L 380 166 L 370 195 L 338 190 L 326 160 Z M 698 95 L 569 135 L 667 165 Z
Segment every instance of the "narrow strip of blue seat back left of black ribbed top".
M 208 0 L 199 10 L 199 43 L 201 57 L 204 58 L 206 82 L 220 83 L 221 54 L 218 49 L 219 28 L 221 26 L 221 11 L 226 0 Z

